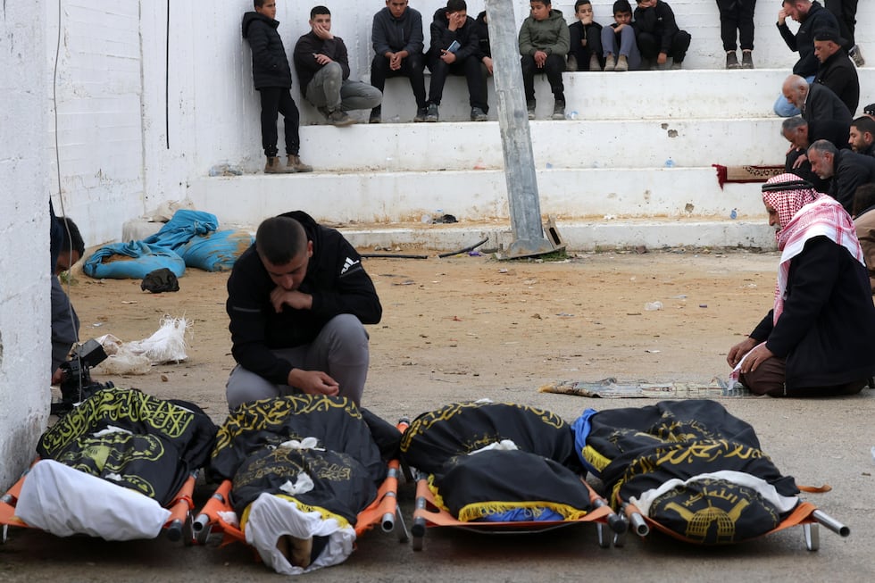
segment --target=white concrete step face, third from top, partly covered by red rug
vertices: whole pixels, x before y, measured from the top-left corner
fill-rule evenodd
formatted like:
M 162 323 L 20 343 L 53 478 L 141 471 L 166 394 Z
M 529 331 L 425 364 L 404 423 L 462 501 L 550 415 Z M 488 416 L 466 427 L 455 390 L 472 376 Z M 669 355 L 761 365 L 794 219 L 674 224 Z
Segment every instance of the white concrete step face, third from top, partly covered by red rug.
M 540 169 L 543 214 L 562 221 L 615 219 L 730 220 L 762 215 L 759 185 L 718 184 L 704 168 Z M 255 225 L 291 208 L 349 223 L 417 222 L 437 209 L 460 221 L 506 221 L 504 172 L 374 171 L 250 174 L 199 179 L 189 185 L 196 208 L 209 208 L 223 224 Z

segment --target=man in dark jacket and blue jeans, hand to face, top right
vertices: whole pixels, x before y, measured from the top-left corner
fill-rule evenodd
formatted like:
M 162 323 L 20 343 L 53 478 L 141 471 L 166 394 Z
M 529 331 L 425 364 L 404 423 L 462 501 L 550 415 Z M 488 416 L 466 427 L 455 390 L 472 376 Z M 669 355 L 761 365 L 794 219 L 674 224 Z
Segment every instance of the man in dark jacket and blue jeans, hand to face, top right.
M 787 26 L 787 18 L 799 23 L 796 34 Z M 793 65 L 793 74 L 804 77 L 809 83 L 817 73 L 817 57 L 814 56 L 814 33 L 818 30 L 837 30 L 836 17 L 829 10 L 824 10 L 821 4 L 811 0 L 783 0 L 778 11 L 778 31 L 787 47 L 799 54 L 799 60 Z M 793 104 L 788 104 L 784 96 L 779 96 L 774 104 L 775 113 L 781 117 L 799 115 L 799 110 Z

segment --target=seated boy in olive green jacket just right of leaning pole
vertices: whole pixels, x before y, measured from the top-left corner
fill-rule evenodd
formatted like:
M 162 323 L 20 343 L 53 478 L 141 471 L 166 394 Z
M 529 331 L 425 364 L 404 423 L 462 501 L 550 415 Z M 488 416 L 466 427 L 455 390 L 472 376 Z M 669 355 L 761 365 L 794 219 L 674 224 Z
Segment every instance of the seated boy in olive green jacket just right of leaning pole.
M 553 119 L 565 119 L 565 55 L 571 45 L 568 25 L 562 12 L 554 10 L 550 0 L 531 0 L 531 13 L 520 29 L 522 84 L 526 91 L 529 120 L 535 119 L 535 73 L 546 73 L 553 92 Z

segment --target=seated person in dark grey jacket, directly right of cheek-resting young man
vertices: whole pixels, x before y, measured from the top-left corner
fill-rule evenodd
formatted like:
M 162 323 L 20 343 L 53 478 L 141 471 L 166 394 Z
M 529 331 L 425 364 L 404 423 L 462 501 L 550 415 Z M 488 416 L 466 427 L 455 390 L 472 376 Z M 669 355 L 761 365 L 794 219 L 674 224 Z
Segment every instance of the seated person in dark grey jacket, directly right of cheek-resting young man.
M 371 85 L 383 92 L 388 77 L 410 79 L 416 99 L 413 121 L 425 121 L 428 104 L 425 97 L 425 46 L 422 14 L 407 5 L 407 0 L 386 0 L 386 7 L 374 14 L 371 28 L 374 59 L 371 62 Z M 382 121 L 380 106 L 371 110 L 371 123 Z

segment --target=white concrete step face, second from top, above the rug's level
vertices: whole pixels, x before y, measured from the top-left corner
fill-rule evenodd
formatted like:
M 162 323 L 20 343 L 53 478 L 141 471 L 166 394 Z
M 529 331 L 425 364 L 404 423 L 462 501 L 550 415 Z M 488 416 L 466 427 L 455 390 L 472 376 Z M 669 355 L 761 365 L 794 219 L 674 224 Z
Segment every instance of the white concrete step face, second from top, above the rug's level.
M 658 168 L 783 163 L 779 118 L 530 121 L 537 168 Z M 496 121 L 301 129 L 318 171 L 472 171 L 504 167 Z M 342 144 L 343 147 L 337 147 Z M 352 156 L 349 153 L 354 152 Z

